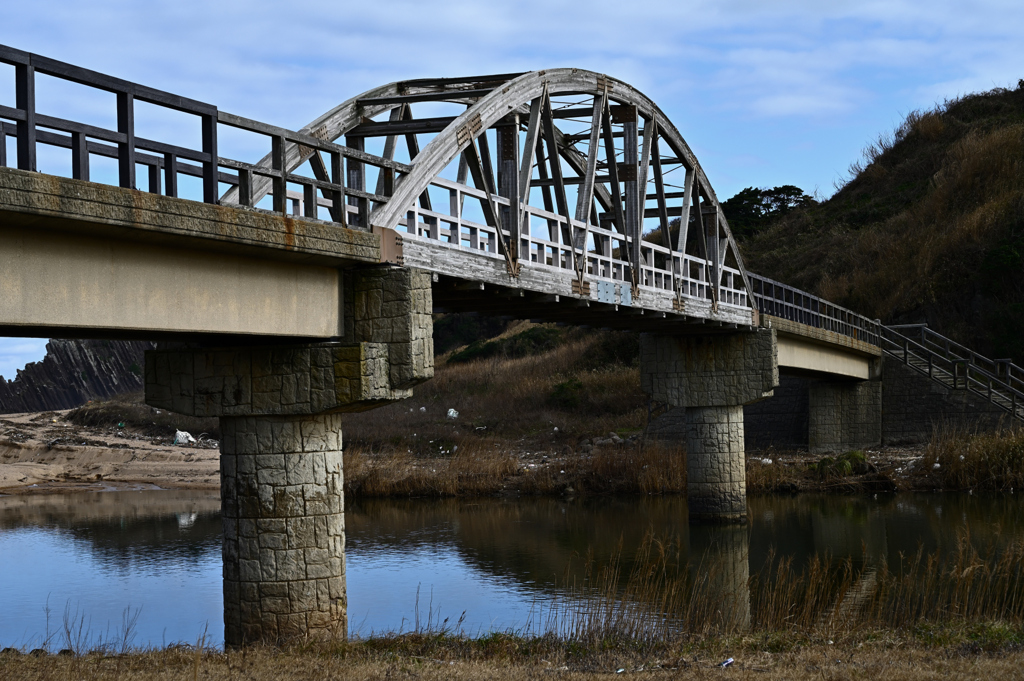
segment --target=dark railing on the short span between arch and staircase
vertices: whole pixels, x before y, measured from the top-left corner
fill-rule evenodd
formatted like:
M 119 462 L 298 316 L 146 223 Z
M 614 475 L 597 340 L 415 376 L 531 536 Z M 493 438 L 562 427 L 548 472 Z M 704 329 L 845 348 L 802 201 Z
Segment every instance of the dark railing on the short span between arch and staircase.
M 856 340 L 881 345 L 882 325 L 845 307 L 766 276 L 748 272 L 754 303 L 762 314 L 823 329 Z

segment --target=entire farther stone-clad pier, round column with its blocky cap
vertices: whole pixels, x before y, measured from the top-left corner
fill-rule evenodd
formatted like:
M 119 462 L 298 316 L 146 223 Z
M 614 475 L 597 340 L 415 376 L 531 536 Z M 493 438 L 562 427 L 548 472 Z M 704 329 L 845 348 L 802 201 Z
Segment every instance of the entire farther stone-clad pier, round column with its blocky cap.
M 744 522 L 743 405 L 778 385 L 775 331 L 640 336 L 640 383 L 652 399 L 685 408 L 690 522 Z

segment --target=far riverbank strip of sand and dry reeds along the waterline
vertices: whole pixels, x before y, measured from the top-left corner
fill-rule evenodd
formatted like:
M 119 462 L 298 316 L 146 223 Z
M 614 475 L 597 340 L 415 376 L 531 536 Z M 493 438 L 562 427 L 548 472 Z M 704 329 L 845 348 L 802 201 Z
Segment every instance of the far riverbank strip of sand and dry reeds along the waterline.
M 93 418 L 97 412 L 109 412 L 108 418 Z M 119 412 L 109 406 L 85 413 L 91 416 L 83 419 L 79 410 L 0 417 L 0 494 L 219 488 L 218 442 L 209 434 L 196 433 L 196 442 L 175 444 L 173 427 L 146 426 L 138 416 L 119 421 Z M 437 427 L 450 432 L 424 438 L 416 450 L 408 442 L 347 444 L 346 495 L 572 497 L 686 490 L 685 454 L 678 445 L 645 441 L 642 431 L 623 429 L 566 441 L 552 430 L 507 440 L 481 430 L 459 432 L 458 424 Z M 411 436 L 419 438 L 418 433 Z M 828 458 L 799 451 L 751 452 L 746 469 L 748 492 L 755 495 L 986 484 L 1009 491 L 1014 484 L 1024 486 L 1024 437 L 946 433 L 928 445 Z

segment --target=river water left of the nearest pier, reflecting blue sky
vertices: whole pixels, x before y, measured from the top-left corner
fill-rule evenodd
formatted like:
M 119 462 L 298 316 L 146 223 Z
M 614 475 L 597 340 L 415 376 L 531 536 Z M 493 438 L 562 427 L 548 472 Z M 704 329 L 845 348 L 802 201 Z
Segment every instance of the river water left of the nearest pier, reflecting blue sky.
M 182 519 L 184 522 L 182 522 Z M 194 492 L 0 497 L 0 644 L 66 647 L 65 620 L 88 643 L 222 636 L 220 501 Z M 67 610 L 67 611 L 66 611 Z M 52 636 L 51 636 L 52 635 Z

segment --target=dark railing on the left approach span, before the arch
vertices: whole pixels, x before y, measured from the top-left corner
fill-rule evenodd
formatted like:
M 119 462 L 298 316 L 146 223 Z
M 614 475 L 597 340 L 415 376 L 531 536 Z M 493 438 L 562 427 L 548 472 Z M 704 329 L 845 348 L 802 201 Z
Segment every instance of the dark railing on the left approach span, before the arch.
M 202 201 L 221 203 L 223 190 L 238 189 L 238 204 L 254 207 L 264 195 L 279 213 L 319 217 L 319 209 L 343 226 L 369 229 L 370 204 L 385 203 L 396 177 L 411 167 L 367 154 L 358 148 L 325 141 L 218 111 L 213 104 L 156 90 L 22 50 L 0 45 L 0 63 L 14 67 L 15 105 L 0 105 L 0 166 L 38 169 L 40 145 L 71 150 L 71 175 L 90 180 L 90 157 L 116 159 L 118 185 L 152 194 L 178 197 L 180 175 L 202 178 Z M 37 75 L 42 74 L 89 88 L 111 92 L 116 99 L 117 129 L 106 129 L 36 110 Z M 146 139 L 135 134 L 135 102 L 143 101 L 199 118 L 199 148 Z M 240 128 L 269 137 L 269 154 L 257 163 L 221 158 L 217 147 L 218 125 Z M 8 164 L 7 137 L 15 140 L 16 159 Z M 312 177 L 288 172 L 286 155 L 298 152 L 309 161 Z M 267 159 L 269 162 L 267 162 Z M 297 164 L 293 164 L 297 165 Z M 383 194 L 366 190 L 366 167 L 379 169 Z M 143 169 L 145 180 L 137 176 Z M 290 209 L 290 210 L 289 210 Z

